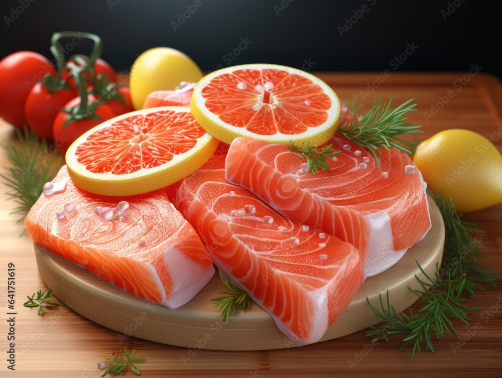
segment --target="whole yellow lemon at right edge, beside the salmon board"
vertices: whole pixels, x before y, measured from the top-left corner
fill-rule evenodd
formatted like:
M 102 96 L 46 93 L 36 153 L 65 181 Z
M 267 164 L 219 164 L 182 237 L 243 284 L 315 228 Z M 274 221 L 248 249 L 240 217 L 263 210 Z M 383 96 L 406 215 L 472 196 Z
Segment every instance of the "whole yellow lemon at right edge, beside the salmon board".
M 499 133 L 493 133 L 492 139 L 498 138 Z M 442 131 L 417 147 L 413 162 L 428 187 L 450 196 L 459 213 L 502 202 L 502 156 L 477 133 Z

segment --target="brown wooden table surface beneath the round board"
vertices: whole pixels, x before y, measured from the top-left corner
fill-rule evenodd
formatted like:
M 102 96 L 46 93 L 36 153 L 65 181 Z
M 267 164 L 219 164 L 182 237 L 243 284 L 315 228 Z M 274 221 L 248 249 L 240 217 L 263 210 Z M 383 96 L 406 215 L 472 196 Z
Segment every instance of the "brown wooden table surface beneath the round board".
M 422 140 L 445 129 L 470 129 L 491 138 L 501 151 L 502 86 L 489 75 L 464 74 L 392 73 L 385 77 L 381 73 L 317 73 L 333 86 L 342 101 L 356 96 L 357 103 L 364 105 L 363 109 L 368 109 L 372 100 L 380 95 L 384 99 L 394 96 L 396 104 L 414 97 L 418 111 L 410 120 L 423 125 Z M 13 136 L 12 127 L 1 123 L 0 138 L 12 139 Z M 0 156 L 0 166 L 6 165 L 5 157 Z M 454 322 L 458 337 L 435 341 L 436 353 L 416 353 L 412 361 L 409 360 L 409 348 L 398 352 L 402 344 L 398 337 L 393 337 L 389 343 L 371 345 L 364 332 L 301 348 L 222 352 L 199 350 L 196 340 L 194 348 L 188 349 L 127 337 L 92 323 L 67 306 L 37 316 L 36 309 L 22 306 L 24 298 L 47 287 L 40 278 L 30 238 L 19 237 L 23 226 L 15 223 L 15 215 L 9 214 L 15 205 L 6 201 L 6 191 L 0 183 L 0 306 L 5 309 L 0 315 L 0 371 L 3 377 L 97 377 L 97 362 L 126 346 L 136 348 L 137 357 L 147 359 L 140 365 L 146 377 L 345 376 L 349 373 L 364 377 L 413 378 L 502 376 L 502 285 L 496 289 L 487 288 L 465 302 L 467 306 L 483 307 L 470 313 L 471 325 L 477 324 L 477 328 L 468 329 Z M 502 271 L 502 205 L 464 218 L 478 222 L 486 231 L 482 239 L 486 258 L 480 262 Z M 9 262 L 16 265 L 15 372 L 7 369 L 6 361 Z M 124 375 L 135 376 L 131 371 Z

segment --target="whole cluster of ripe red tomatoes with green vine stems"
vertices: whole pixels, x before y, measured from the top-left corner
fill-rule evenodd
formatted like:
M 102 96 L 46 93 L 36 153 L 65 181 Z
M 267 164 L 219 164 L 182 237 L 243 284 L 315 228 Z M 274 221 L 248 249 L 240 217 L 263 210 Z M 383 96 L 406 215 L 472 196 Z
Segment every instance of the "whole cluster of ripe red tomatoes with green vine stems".
M 2 59 L 0 116 L 19 128 L 27 124 L 40 138 L 53 140 L 64 154 L 80 135 L 132 111 L 133 105 L 129 88 L 116 83 L 113 68 L 96 54 L 57 63 L 55 68 L 31 51 Z

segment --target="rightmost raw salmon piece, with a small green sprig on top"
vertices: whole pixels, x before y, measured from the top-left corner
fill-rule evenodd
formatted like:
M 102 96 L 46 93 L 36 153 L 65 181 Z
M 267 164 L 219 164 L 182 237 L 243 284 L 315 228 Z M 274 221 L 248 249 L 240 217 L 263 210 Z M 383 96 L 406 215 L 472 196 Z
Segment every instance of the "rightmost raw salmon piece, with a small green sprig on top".
M 421 240 L 431 221 L 425 183 L 410 158 L 381 151 L 380 169 L 371 153 L 335 134 L 341 154 L 330 171 L 308 170 L 288 146 L 237 138 L 226 159 L 226 179 L 302 224 L 320 228 L 359 249 L 364 276 L 395 264 Z

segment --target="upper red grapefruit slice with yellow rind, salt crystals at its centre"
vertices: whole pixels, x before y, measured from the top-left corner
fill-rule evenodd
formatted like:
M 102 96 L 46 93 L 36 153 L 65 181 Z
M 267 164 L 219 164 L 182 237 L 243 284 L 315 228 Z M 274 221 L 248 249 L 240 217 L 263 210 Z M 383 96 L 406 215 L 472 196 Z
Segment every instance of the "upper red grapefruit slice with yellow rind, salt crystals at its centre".
M 321 145 L 335 133 L 340 102 L 321 79 L 275 64 L 244 64 L 202 78 L 190 109 L 213 137 Z

